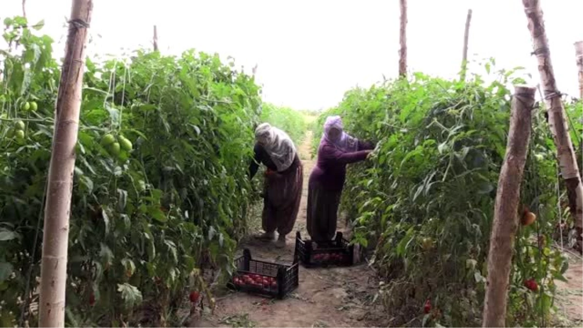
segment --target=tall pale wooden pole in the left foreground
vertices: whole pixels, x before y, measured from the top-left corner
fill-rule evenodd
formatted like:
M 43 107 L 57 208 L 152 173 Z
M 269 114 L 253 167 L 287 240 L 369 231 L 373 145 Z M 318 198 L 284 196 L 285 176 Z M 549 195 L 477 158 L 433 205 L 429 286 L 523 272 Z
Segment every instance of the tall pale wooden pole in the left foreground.
M 75 169 L 75 145 L 79 130 L 79 108 L 87 28 L 92 0 L 73 0 L 65 60 L 55 109 L 55 130 L 48 172 L 44 212 L 43 260 L 41 262 L 39 320 L 41 328 L 65 326 L 65 287 L 69 217 Z

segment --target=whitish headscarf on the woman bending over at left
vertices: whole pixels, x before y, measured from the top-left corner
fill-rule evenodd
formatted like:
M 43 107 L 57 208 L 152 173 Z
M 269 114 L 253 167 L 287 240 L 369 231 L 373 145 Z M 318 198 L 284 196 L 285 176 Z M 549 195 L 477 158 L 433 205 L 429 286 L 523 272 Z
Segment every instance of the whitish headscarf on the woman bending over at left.
M 286 132 L 272 127 L 269 123 L 259 124 L 255 129 L 255 140 L 268 153 L 278 172 L 290 167 L 296 158 L 296 146 Z

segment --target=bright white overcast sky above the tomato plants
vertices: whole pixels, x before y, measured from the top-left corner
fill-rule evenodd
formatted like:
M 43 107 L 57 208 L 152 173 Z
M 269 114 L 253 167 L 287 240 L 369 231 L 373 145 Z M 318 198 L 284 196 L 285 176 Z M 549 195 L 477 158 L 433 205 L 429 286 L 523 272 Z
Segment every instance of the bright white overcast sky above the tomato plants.
M 187 48 L 258 64 L 264 99 L 295 109 L 335 106 L 353 86 L 370 86 L 398 68 L 398 0 L 94 0 L 91 33 L 99 53 L 150 46 L 158 26 L 161 51 Z M 578 95 L 575 41 L 583 40 L 582 0 L 542 0 L 561 91 Z M 44 32 L 66 33 L 71 0 L 27 0 Z M 469 53 L 499 67 L 536 72 L 520 0 L 409 0 L 409 70 L 450 77 L 459 69 L 466 12 L 473 9 Z M 21 0 L 1 0 L 0 15 L 22 15 Z M 575 26 L 575 27 L 569 27 Z M 97 38 L 97 35 L 100 38 Z M 55 46 L 62 53 L 64 44 Z M 60 57 L 60 53 L 59 57 Z M 537 83 L 537 81 L 533 81 Z

